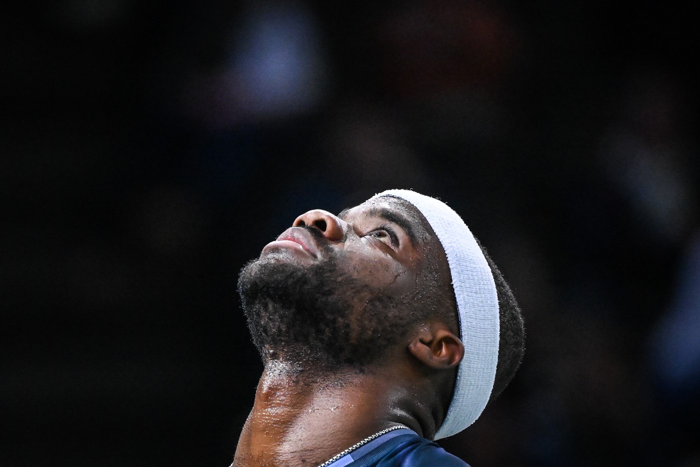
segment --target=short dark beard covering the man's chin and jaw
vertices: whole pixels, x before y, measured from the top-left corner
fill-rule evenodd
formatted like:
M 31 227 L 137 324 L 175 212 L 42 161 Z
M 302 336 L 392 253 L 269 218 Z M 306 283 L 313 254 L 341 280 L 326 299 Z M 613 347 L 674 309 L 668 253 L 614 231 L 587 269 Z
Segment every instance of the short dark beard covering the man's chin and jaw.
M 238 292 L 266 365 L 284 360 L 326 370 L 363 368 L 397 344 L 416 318 L 407 297 L 382 295 L 358 280 L 361 271 L 325 253 L 323 262 L 311 265 L 267 255 L 241 270 Z

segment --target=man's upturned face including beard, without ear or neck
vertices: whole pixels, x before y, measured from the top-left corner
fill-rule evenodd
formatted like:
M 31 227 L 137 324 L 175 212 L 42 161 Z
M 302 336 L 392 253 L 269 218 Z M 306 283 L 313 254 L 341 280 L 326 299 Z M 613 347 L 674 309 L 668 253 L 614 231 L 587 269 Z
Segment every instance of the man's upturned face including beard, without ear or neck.
M 382 197 L 339 216 L 309 211 L 241 271 L 263 360 L 365 365 L 419 319 L 436 240 L 409 203 Z

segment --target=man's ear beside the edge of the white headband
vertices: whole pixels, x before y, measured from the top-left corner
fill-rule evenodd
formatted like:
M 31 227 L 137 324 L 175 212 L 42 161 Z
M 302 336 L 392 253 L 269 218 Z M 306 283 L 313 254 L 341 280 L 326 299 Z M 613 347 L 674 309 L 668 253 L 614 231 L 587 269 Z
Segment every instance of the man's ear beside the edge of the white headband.
M 408 344 L 408 351 L 434 370 L 449 370 L 464 358 L 464 344 L 441 322 L 423 323 Z

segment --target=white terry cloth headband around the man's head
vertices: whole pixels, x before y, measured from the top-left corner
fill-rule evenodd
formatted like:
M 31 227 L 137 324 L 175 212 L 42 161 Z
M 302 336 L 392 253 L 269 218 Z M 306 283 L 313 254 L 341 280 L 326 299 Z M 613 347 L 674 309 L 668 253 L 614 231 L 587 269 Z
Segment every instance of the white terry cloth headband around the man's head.
M 393 196 L 414 205 L 442 243 L 457 299 L 464 358 L 457 369 L 452 402 L 435 439 L 455 435 L 479 418 L 489 402 L 498 361 L 498 297 L 491 268 L 459 215 L 430 196 L 409 190 L 387 190 L 372 196 Z

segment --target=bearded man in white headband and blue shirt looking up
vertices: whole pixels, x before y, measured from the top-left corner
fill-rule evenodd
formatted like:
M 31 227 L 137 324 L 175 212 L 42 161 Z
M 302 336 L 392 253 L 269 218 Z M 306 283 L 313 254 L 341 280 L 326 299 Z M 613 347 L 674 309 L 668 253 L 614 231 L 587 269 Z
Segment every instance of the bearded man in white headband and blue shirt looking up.
M 414 191 L 298 217 L 239 293 L 265 370 L 234 467 L 466 466 L 430 440 L 472 424 L 524 350 L 496 266 Z

